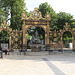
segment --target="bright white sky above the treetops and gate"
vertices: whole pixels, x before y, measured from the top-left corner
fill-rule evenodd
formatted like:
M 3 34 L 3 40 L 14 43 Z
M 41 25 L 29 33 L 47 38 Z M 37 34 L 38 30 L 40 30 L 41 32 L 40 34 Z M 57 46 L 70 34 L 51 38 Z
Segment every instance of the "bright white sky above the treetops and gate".
M 75 0 L 25 0 L 27 11 L 33 11 L 41 3 L 48 2 L 56 13 L 60 11 L 70 13 L 75 19 Z

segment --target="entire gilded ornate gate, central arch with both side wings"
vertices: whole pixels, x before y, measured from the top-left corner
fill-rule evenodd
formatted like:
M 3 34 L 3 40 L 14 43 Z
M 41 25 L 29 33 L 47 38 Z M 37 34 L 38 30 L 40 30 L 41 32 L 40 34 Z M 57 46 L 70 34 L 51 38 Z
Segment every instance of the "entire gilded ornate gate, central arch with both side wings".
M 27 30 L 31 26 L 38 26 L 44 29 L 46 50 L 62 49 L 64 47 L 62 36 L 66 31 L 71 32 L 73 49 L 75 49 L 75 28 L 71 29 L 68 23 L 65 23 L 64 28 L 59 31 L 50 31 L 50 15 L 47 13 L 45 18 L 43 18 L 37 8 L 31 12 L 29 18 L 27 18 L 25 13 L 22 13 L 22 21 L 21 31 L 12 30 L 6 24 L 6 21 L 0 27 L 0 32 L 5 30 L 9 33 L 9 50 L 27 50 Z

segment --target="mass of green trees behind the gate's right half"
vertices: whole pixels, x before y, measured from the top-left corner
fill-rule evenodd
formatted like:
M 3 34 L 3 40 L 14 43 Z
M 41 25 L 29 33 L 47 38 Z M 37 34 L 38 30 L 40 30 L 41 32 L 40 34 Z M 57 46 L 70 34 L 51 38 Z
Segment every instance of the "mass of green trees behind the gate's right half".
M 56 13 L 47 2 L 41 3 L 39 5 L 39 11 L 41 11 L 43 17 L 45 17 L 47 12 L 49 12 L 51 16 L 50 30 L 52 31 L 55 29 L 63 29 L 63 25 L 65 25 L 65 22 L 68 22 L 72 28 L 75 27 L 75 20 L 73 19 L 73 16 L 71 14 L 66 12 Z

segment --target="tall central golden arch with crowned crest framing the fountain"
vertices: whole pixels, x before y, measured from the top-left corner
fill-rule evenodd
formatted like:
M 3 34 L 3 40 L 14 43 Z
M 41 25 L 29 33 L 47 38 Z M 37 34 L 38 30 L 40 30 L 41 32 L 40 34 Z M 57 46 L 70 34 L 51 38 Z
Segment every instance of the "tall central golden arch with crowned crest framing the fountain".
M 38 26 L 44 29 L 45 31 L 45 48 L 49 49 L 49 21 L 50 15 L 47 13 L 45 18 L 42 17 L 41 12 L 38 11 L 37 8 L 31 12 L 30 17 L 27 18 L 25 13 L 22 13 L 23 20 L 23 49 L 27 50 L 27 30 L 31 26 Z

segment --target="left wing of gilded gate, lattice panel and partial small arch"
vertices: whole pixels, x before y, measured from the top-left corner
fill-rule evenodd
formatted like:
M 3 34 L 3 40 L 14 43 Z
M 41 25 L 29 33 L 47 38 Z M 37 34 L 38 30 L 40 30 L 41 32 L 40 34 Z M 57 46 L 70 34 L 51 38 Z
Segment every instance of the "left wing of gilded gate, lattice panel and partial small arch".
M 22 43 L 23 43 L 23 31 L 12 30 L 9 28 L 6 21 L 1 24 L 0 32 L 5 30 L 9 34 L 9 50 L 22 50 Z

